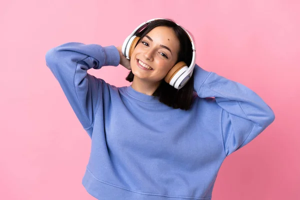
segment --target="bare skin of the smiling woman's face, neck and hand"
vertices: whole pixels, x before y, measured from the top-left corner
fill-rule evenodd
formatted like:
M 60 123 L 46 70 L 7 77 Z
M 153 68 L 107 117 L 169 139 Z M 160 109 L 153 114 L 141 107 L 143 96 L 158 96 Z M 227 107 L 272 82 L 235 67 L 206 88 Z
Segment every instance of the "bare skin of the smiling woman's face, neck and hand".
M 120 64 L 131 69 L 134 74 L 131 87 L 138 92 L 152 95 L 167 72 L 174 66 L 179 45 L 172 28 L 157 26 L 136 45 L 130 60 L 122 54 L 122 46 L 118 46 Z M 138 64 L 138 61 L 142 63 Z

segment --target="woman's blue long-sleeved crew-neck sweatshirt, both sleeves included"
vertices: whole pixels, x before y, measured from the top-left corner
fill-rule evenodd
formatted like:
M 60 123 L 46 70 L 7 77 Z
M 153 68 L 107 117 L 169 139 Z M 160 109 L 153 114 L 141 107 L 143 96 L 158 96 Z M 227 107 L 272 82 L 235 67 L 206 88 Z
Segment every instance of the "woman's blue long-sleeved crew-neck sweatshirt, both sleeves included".
M 224 158 L 274 120 L 254 91 L 198 65 L 197 95 L 181 110 L 87 73 L 117 66 L 115 46 L 68 42 L 45 59 L 91 138 L 82 184 L 97 199 L 211 199 Z

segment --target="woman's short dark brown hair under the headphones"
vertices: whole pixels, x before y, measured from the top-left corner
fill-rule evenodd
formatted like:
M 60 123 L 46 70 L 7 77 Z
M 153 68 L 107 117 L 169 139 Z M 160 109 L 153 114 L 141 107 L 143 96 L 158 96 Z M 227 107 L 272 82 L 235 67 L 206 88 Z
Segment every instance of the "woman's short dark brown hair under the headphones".
M 142 29 L 139 33 L 136 34 L 136 36 L 140 37 L 136 45 L 150 30 L 157 26 L 167 26 L 171 27 L 174 30 L 175 35 L 177 36 L 180 42 L 178 59 L 176 63 L 179 61 L 184 61 L 187 64 L 187 66 L 189 66 L 192 58 L 191 42 L 185 31 L 171 19 L 157 19 L 151 21 L 144 29 Z M 132 82 L 133 76 L 134 74 L 130 70 L 129 74 L 126 77 L 126 80 Z M 190 79 L 181 89 L 176 89 L 170 84 L 166 83 L 163 79 L 157 87 L 157 89 L 152 94 L 152 96 L 157 96 L 160 102 L 175 109 L 180 108 L 183 110 L 188 110 L 193 102 L 193 82 L 194 81 L 192 74 Z

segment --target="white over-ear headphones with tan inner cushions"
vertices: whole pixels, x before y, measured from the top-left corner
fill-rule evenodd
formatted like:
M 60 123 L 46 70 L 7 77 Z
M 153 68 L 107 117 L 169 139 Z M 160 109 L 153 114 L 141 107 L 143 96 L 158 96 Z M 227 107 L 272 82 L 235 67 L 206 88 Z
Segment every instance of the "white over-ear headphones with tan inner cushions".
M 133 52 L 133 49 L 137 43 L 137 40 L 139 37 L 137 37 L 135 34 L 138 33 L 140 30 L 142 30 L 144 27 L 146 27 L 151 21 L 157 20 L 157 19 L 165 19 L 165 18 L 153 18 L 146 22 L 141 23 L 139 26 L 137 26 L 130 35 L 126 37 L 124 40 L 124 43 L 122 45 L 122 53 L 127 58 L 130 59 L 130 56 Z M 169 19 L 165 19 L 169 20 Z M 177 23 L 176 23 L 177 24 Z M 177 24 L 180 26 L 179 24 Z M 192 71 L 195 66 L 195 60 L 196 60 L 196 49 L 194 47 L 194 40 L 191 37 L 191 35 L 182 27 L 180 26 L 189 37 L 189 40 L 191 42 L 192 47 L 192 59 L 190 65 L 187 67 L 187 64 L 183 61 L 180 61 L 176 63 L 167 73 L 167 75 L 164 77 L 164 80 L 169 83 L 171 86 L 175 87 L 176 89 L 180 89 L 184 86 L 184 84 L 189 80 L 191 77 Z

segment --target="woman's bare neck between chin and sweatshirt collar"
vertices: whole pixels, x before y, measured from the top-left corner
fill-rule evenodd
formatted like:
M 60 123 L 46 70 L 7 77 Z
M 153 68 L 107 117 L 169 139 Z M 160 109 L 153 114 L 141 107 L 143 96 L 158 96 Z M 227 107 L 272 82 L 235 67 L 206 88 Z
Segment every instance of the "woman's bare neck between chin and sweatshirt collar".
M 152 95 L 154 91 L 157 89 L 159 86 L 160 82 L 149 82 L 146 80 L 142 80 L 136 76 L 133 77 L 133 81 L 131 84 L 131 87 L 138 92 L 147 94 L 147 95 Z

